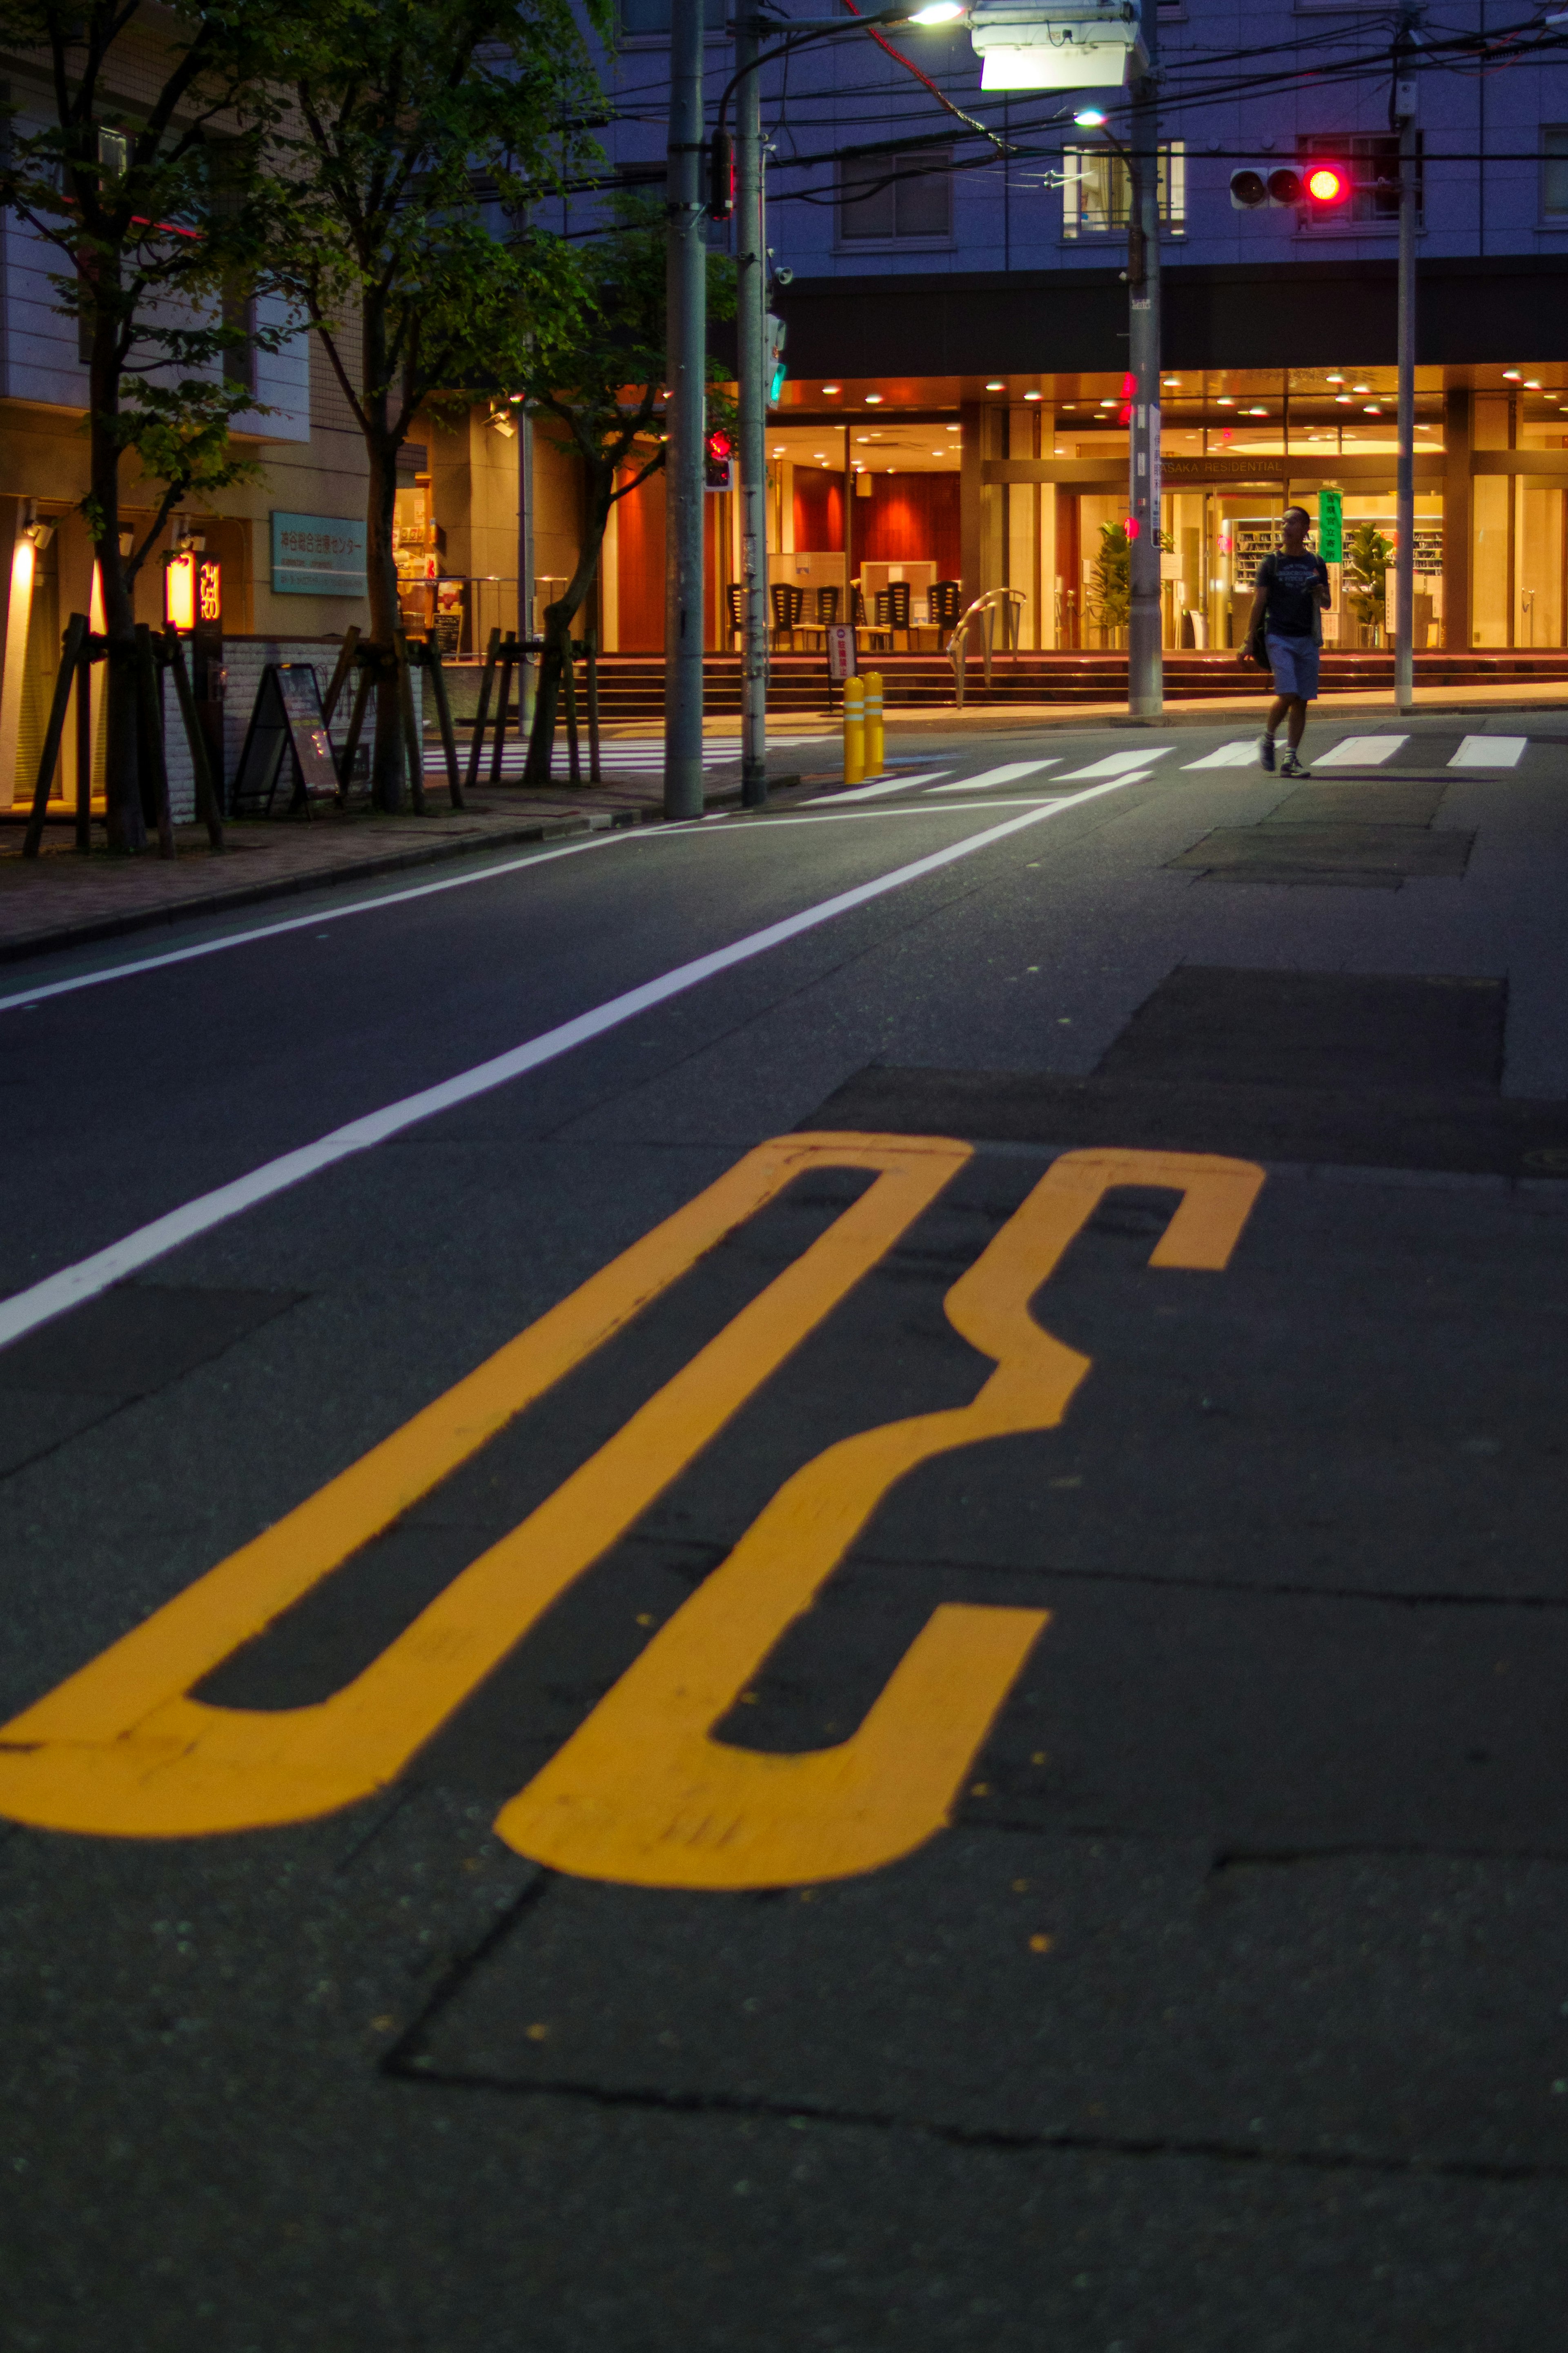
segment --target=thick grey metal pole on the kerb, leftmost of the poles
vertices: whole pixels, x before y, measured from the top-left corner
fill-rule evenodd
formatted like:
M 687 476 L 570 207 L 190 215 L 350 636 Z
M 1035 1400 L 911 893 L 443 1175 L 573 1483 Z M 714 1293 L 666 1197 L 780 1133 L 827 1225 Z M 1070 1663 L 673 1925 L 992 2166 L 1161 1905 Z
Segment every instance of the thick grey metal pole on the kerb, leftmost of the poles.
M 703 0 L 670 9 L 665 179 L 665 816 L 703 814 L 703 384 L 708 235 L 703 231 Z

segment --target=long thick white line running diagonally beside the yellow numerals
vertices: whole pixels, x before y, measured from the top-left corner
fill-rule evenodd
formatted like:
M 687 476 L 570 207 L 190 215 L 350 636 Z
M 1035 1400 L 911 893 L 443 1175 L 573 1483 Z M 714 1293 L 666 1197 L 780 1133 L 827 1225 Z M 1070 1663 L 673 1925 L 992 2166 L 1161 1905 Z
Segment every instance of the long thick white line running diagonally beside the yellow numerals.
M 440 1111 L 454 1111 L 458 1104 L 470 1104 L 475 1096 L 489 1094 L 494 1087 L 505 1087 L 515 1078 L 527 1078 L 529 1071 L 538 1071 L 559 1054 L 569 1054 L 574 1047 L 588 1045 L 592 1038 L 602 1038 L 607 1031 L 621 1028 L 623 1021 L 632 1021 L 654 1005 L 665 1005 L 670 998 L 682 995 L 686 988 L 696 988 L 717 972 L 729 972 L 733 965 L 745 965 L 750 958 L 764 955 L 769 948 L 780 948 L 788 939 L 799 939 L 802 932 L 813 932 L 818 925 L 832 922 L 835 915 L 846 915 L 856 906 L 886 896 L 886 892 L 903 889 L 905 882 L 919 882 L 922 875 L 940 873 L 943 866 L 954 866 L 959 859 L 973 856 L 976 849 L 1004 842 L 1011 833 L 1023 833 L 1025 826 L 1039 826 L 1046 819 L 1058 816 L 1063 809 L 1077 809 L 1086 800 L 1100 800 L 1105 793 L 1117 793 L 1121 784 L 1126 784 L 1124 776 L 1112 776 L 1107 784 L 1093 786 L 1088 793 L 1070 793 L 1039 809 L 1023 809 L 1018 816 L 1009 816 L 999 826 L 985 826 L 980 833 L 969 833 L 961 842 L 950 842 L 945 849 L 931 849 L 924 859 L 912 859 L 907 866 L 893 866 L 891 873 L 877 875 L 872 882 L 858 882 L 853 889 L 835 892 L 832 899 L 820 899 L 816 906 L 802 908 L 799 915 L 785 915 L 783 922 L 769 922 L 762 932 L 750 932 L 745 939 L 731 941 L 729 948 L 715 948 L 710 955 L 696 955 L 689 965 L 677 965 L 672 972 L 663 972 L 656 981 L 642 981 L 639 988 L 628 988 L 618 998 L 609 998 L 604 1005 L 595 1005 L 590 1012 L 576 1014 L 571 1021 L 562 1021 L 557 1028 L 543 1031 L 538 1038 L 529 1038 L 508 1054 L 496 1054 L 491 1061 L 475 1064 L 473 1071 L 458 1071 L 456 1078 L 444 1078 L 435 1087 L 421 1087 L 418 1094 L 407 1094 L 400 1104 L 386 1104 L 381 1111 L 350 1120 L 346 1127 L 334 1127 L 331 1134 L 317 1136 L 315 1144 L 301 1144 L 299 1151 L 282 1153 L 277 1160 L 266 1160 L 259 1169 L 252 1169 L 247 1176 L 235 1176 L 233 1184 L 223 1184 L 214 1193 L 200 1193 L 179 1209 L 169 1209 L 165 1217 L 155 1217 L 148 1226 L 139 1226 L 136 1233 L 127 1233 L 120 1242 L 110 1242 L 108 1249 L 94 1249 L 89 1259 L 78 1259 L 75 1266 L 61 1266 L 59 1273 L 45 1275 L 45 1280 L 33 1282 L 31 1289 L 14 1292 L 9 1299 L 2 1299 L 0 1348 L 21 1339 L 24 1332 L 35 1332 L 38 1325 L 52 1322 L 68 1308 L 80 1306 L 82 1299 L 96 1299 L 99 1292 L 110 1287 L 110 1282 L 125 1282 L 125 1278 L 134 1275 L 141 1266 L 150 1266 L 155 1259 L 167 1257 L 183 1242 L 193 1242 L 200 1233 L 212 1233 L 214 1226 L 228 1224 L 230 1217 L 240 1217 L 240 1212 L 254 1209 L 259 1202 L 273 1200 L 277 1193 L 287 1193 L 306 1176 L 315 1176 L 317 1169 L 334 1167 L 334 1162 L 348 1160 L 353 1153 L 369 1151 L 374 1144 L 386 1144 L 388 1136 L 397 1136 L 404 1127 L 416 1127 L 421 1120 L 430 1120 Z M 686 838 L 717 842 L 719 835 L 691 828 Z M 724 840 L 745 840 L 745 835 L 726 833 Z

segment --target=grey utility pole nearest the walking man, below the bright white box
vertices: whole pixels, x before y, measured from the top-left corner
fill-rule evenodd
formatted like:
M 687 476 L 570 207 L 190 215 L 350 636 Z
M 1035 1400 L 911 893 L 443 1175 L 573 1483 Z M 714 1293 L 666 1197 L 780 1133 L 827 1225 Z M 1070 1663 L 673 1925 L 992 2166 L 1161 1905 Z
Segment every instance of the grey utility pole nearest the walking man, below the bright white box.
M 1128 139 L 1128 518 L 1133 602 L 1126 633 L 1126 708 L 1157 720 L 1166 708 L 1159 593 L 1159 0 L 1143 0 L 1145 64 L 1133 82 Z

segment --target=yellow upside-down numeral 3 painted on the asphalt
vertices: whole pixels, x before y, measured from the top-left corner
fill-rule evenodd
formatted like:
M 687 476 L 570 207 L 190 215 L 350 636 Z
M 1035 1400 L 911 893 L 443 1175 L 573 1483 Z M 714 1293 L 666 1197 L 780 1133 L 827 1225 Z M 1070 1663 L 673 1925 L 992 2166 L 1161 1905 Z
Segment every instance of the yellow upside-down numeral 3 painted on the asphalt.
M 1053 1428 L 1091 1360 L 1030 1315 L 1112 1186 L 1180 1191 L 1152 1266 L 1222 1268 L 1262 1186 L 1244 1160 L 1081 1151 L 1056 1160 L 945 1299 L 997 1369 L 971 1405 L 860 1431 L 804 1464 L 496 1817 L 541 1864 L 651 1887 L 783 1887 L 875 1871 L 919 1847 L 952 1800 L 1044 1609 L 943 1605 L 860 1729 L 809 1755 L 715 1741 L 712 1725 L 844 1560 L 889 1489 L 952 1447 Z

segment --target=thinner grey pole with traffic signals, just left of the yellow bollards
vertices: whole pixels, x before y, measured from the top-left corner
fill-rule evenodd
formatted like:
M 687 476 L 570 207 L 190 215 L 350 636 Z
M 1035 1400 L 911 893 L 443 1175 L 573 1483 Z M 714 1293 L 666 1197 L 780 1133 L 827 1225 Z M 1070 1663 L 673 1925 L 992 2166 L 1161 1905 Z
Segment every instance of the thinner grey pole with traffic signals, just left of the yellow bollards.
M 741 372 L 741 802 L 769 798 L 769 308 L 757 21 L 736 16 L 736 344 Z

